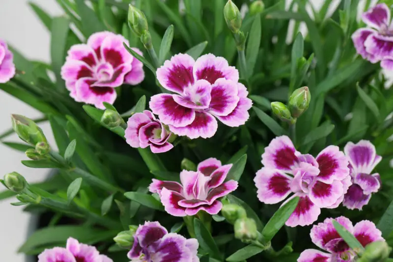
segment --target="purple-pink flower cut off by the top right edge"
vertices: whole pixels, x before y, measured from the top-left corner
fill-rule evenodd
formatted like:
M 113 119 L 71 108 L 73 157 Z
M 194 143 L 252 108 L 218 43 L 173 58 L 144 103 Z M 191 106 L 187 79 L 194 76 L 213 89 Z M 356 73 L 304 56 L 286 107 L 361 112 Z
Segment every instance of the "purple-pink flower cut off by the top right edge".
M 381 61 L 381 67 L 393 70 L 393 25 L 386 3 L 370 8 L 362 15 L 367 28 L 352 34 L 356 51 L 372 63 Z

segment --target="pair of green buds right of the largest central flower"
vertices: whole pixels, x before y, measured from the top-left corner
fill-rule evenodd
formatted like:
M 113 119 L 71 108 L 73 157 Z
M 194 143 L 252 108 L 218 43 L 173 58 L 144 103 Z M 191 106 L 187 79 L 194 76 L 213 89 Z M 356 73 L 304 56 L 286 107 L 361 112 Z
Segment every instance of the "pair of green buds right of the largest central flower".
M 296 119 L 309 108 L 310 99 L 309 87 L 300 87 L 289 96 L 288 106 L 281 102 L 272 102 L 270 106 L 273 114 L 281 121 L 294 124 Z

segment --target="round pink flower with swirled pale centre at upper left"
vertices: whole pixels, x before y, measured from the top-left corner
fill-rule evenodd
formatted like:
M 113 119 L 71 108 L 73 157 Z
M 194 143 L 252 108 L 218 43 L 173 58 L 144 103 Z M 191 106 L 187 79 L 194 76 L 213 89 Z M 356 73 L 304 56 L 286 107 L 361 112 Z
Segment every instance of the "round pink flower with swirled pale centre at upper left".
M 104 109 L 103 102 L 113 104 L 116 99 L 114 87 L 137 85 L 143 80 L 142 63 L 123 43 L 128 41 L 122 35 L 104 31 L 90 35 L 87 44 L 71 47 L 61 77 L 75 101 Z

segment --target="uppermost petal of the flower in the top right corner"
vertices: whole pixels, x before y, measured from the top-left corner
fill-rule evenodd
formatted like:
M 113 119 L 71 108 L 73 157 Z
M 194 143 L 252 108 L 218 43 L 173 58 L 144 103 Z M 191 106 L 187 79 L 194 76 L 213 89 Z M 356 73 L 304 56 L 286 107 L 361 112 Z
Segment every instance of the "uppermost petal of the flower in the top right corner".
M 390 23 L 390 9 L 386 3 L 380 3 L 363 13 L 362 20 L 369 27 L 381 29 Z

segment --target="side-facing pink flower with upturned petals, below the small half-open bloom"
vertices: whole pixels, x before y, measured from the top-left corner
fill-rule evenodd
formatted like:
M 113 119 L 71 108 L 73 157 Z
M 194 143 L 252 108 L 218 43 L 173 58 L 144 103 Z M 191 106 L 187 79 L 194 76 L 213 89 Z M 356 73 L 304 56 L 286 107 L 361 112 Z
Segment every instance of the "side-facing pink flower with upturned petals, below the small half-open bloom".
M 235 180 L 224 182 L 231 167 L 232 164 L 222 166 L 219 160 L 209 158 L 199 163 L 197 172 L 183 170 L 181 184 L 153 179 L 149 190 L 158 193 L 165 211 L 172 216 L 193 216 L 199 210 L 214 215 L 223 207 L 218 198 L 237 188 Z

